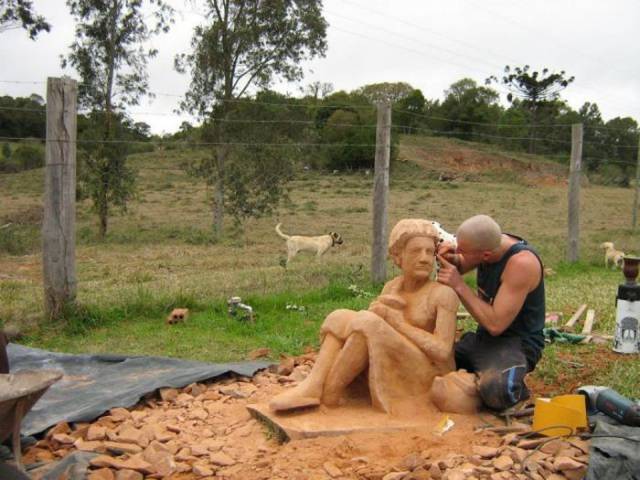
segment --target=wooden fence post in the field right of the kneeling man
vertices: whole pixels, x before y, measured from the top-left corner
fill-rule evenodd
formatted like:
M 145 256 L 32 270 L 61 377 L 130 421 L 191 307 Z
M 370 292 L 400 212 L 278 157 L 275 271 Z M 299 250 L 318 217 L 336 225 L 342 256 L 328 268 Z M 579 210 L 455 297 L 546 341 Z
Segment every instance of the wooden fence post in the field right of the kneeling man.
M 580 171 L 582 169 L 582 124 L 571 125 L 571 166 L 569 168 L 569 219 L 567 261 L 580 257 Z

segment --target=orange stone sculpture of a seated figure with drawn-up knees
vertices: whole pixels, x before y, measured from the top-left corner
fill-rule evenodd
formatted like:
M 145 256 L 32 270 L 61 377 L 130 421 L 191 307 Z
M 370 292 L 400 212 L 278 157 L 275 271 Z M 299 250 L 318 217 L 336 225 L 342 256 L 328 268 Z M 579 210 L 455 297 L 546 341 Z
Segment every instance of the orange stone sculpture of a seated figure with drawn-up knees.
M 402 274 L 385 284 L 368 310 L 340 309 L 326 317 L 309 376 L 274 397 L 270 408 L 338 406 L 346 388 L 366 372 L 375 409 L 403 416 L 423 411 L 434 379 L 455 375 L 450 372 L 455 369 L 459 300 L 450 287 L 431 279 L 437 243 L 432 222 L 398 222 L 390 234 L 389 255 Z M 449 378 L 439 382 L 442 388 L 435 395 L 441 409 L 446 409 Z

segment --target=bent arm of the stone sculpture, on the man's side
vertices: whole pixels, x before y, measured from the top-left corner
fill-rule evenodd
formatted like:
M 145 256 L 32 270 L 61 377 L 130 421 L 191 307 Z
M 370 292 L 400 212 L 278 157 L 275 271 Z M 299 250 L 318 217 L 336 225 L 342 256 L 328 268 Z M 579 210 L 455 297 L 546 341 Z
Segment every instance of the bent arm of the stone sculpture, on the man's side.
M 456 312 L 460 301 L 450 288 L 436 290 L 431 300 L 436 305 L 436 326 L 433 333 L 404 321 L 393 326 L 434 362 L 442 363 L 451 358 L 456 335 Z

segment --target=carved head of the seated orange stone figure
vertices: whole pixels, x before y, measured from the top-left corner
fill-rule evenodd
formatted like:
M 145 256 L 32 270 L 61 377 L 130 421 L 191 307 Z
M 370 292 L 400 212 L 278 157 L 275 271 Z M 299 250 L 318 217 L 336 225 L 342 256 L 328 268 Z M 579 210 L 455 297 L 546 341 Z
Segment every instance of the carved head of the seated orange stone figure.
M 405 274 L 429 278 L 433 270 L 438 231 L 431 221 L 405 218 L 389 235 L 389 255 Z

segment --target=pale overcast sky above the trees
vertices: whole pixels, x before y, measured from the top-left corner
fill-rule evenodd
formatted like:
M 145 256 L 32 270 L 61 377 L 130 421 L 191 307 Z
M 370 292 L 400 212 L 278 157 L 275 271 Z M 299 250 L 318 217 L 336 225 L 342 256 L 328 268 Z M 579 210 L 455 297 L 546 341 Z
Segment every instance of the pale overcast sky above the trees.
M 158 95 L 130 109 L 154 133 L 175 131 L 191 120 L 173 113 L 189 85 L 188 76 L 173 69 L 173 59 L 189 51 L 193 28 L 203 21 L 190 3 L 169 3 L 178 11 L 176 24 L 153 41 L 159 54 L 149 64 L 150 88 Z M 33 4 L 52 30 L 36 41 L 24 30 L 0 34 L 0 95 L 44 97 L 46 77 L 74 77 L 60 67 L 74 34 L 66 2 Z M 302 85 L 322 81 L 352 90 L 404 81 L 435 99 L 463 77 L 482 83 L 506 64 L 529 64 L 575 75 L 563 92 L 573 108 L 591 101 L 605 120 L 640 120 L 638 0 L 325 0 L 324 14 L 327 55 L 305 65 Z M 297 95 L 300 86 L 277 83 L 274 88 Z

